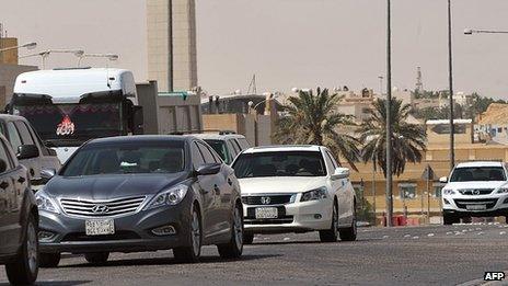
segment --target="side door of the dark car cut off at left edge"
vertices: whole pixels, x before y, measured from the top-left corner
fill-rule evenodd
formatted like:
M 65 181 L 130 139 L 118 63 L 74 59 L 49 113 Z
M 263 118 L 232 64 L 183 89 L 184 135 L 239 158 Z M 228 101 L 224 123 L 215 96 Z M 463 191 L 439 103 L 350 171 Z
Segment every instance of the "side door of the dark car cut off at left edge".
M 21 165 L 14 165 L 18 160 L 12 158 L 7 142 L 0 139 L 0 197 L 1 218 L 0 237 L 2 238 L 1 252 L 13 253 L 16 251 L 21 236 L 21 207 L 24 188 L 20 187 L 18 180 L 26 184 L 26 174 L 23 174 Z M 2 170 L 3 169 L 3 170 Z

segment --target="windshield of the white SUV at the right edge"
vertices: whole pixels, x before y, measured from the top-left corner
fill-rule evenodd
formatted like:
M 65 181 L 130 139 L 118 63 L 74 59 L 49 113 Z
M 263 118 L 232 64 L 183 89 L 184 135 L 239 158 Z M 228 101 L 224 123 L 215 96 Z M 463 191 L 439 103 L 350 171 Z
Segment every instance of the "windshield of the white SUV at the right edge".
M 470 181 L 506 181 L 505 170 L 501 167 L 457 168 L 450 178 L 450 182 Z

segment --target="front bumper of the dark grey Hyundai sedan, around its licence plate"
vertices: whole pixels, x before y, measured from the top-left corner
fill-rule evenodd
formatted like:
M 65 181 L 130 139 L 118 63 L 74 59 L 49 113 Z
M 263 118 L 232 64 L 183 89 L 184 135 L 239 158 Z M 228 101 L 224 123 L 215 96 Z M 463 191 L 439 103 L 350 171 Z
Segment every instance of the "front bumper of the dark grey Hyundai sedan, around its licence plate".
M 39 231 L 54 233 L 49 239 L 39 239 L 41 252 L 138 252 L 187 245 L 186 226 L 190 221 L 190 210 L 187 204 L 182 203 L 177 206 L 113 217 L 115 233 L 106 236 L 85 234 L 85 220 L 91 218 L 39 211 Z M 154 228 L 162 226 L 172 226 L 175 233 L 166 236 L 152 233 Z

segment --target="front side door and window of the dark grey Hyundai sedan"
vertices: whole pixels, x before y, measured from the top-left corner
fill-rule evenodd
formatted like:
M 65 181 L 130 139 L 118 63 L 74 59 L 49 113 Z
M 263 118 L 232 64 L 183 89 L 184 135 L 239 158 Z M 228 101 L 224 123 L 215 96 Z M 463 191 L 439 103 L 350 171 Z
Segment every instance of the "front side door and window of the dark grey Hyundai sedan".
M 208 147 L 199 141 L 196 141 L 199 151 L 205 159 L 205 163 L 216 163 L 216 159 L 213 158 L 211 151 Z M 213 195 L 213 204 L 211 205 L 210 209 L 210 224 L 211 224 L 211 231 L 210 236 L 217 236 L 226 230 L 229 230 L 224 227 L 224 216 L 221 207 L 220 196 L 224 184 L 224 179 L 222 178 L 221 172 L 211 175 L 204 175 L 203 180 L 206 180 L 207 186 L 211 188 L 210 193 Z

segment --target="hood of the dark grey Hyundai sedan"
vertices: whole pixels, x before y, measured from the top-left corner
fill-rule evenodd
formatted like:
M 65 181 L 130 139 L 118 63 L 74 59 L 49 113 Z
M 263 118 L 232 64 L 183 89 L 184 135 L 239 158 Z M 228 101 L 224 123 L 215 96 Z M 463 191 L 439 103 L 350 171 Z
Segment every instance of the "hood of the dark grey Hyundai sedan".
M 79 197 L 106 201 L 126 196 L 152 195 L 186 178 L 186 173 L 55 176 L 46 184 L 44 192 L 59 198 Z

